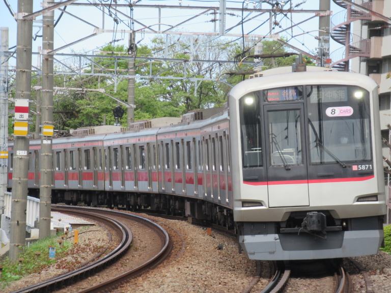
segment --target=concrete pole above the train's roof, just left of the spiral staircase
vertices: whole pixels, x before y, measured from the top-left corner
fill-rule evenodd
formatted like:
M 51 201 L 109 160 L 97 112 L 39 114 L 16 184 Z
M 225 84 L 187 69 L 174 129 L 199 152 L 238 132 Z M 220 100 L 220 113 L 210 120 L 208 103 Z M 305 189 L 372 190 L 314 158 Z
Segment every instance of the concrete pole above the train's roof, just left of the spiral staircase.
M 319 10 L 330 10 L 330 0 L 319 1 Z M 326 59 L 330 58 L 330 15 L 319 16 L 319 66 L 325 66 Z

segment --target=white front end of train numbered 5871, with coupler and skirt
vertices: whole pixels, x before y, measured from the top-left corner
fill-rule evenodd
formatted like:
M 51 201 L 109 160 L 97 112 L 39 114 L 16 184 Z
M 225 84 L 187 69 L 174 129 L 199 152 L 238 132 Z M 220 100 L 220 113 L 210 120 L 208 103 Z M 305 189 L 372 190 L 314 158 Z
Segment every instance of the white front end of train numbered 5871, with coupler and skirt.
M 361 74 L 295 72 L 232 89 L 234 219 L 249 258 L 377 253 L 386 208 L 377 88 Z

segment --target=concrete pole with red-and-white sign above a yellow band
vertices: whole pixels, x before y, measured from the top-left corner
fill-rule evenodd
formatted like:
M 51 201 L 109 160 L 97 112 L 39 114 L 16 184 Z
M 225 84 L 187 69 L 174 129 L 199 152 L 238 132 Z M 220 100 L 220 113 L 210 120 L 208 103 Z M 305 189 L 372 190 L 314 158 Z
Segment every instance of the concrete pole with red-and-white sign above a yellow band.
M 23 16 L 32 12 L 33 0 L 18 0 L 18 12 L 16 13 L 15 140 L 10 229 L 10 258 L 12 260 L 18 258 L 19 246 L 25 246 L 26 242 L 33 19 L 23 19 Z

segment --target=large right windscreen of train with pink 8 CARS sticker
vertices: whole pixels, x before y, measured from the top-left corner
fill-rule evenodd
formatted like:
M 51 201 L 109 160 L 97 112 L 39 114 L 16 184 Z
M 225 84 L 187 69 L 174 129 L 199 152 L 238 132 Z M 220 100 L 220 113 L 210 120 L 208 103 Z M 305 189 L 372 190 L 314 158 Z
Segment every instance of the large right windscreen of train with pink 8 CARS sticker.
M 371 160 L 368 91 L 350 85 L 308 85 L 310 162 Z

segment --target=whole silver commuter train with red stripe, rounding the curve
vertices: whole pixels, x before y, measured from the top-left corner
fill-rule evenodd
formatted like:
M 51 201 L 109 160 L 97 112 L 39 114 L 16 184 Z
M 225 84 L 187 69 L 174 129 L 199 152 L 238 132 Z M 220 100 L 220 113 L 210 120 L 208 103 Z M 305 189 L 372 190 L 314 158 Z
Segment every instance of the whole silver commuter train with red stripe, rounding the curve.
M 377 83 L 314 66 L 251 77 L 221 108 L 53 138 L 52 203 L 214 222 L 235 229 L 250 259 L 376 254 L 386 213 Z M 30 141 L 35 197 L 40 143 Z

